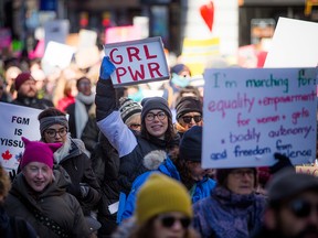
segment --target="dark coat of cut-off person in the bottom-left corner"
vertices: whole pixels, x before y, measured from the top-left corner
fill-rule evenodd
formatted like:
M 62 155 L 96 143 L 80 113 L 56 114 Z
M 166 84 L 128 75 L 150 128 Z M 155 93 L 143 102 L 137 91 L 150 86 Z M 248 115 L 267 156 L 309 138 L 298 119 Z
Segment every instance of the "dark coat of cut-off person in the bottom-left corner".
M 0 234 L 1 238 L 36 238 L 36 231 L 21 217 L 9 217 L 0 205 Z

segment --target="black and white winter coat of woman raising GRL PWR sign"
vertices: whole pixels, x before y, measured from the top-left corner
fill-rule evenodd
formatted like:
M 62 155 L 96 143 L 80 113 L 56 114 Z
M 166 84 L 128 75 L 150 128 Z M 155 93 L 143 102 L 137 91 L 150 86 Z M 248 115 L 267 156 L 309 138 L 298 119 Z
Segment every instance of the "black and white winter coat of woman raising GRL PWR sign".
M 145 139 L 135 134 L 123 121 L 116 104 L 116 93 L 110 79 L 99 79 L 96 87 L 96 120 L 97 126 L 110 144 L 118 151 L 120 158 L 120 190 L 128 194 L 134 180 L 145 173 L 142 164 L 146 154 L 153 150 L 167 151 L 171 144 L 155 137 Z

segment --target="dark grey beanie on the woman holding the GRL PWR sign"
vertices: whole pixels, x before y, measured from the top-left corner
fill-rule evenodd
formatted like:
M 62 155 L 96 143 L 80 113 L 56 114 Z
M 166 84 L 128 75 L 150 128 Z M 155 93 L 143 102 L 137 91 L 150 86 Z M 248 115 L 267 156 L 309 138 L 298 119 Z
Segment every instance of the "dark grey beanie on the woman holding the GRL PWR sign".
M 169 109 L 168 101 L 162 97 L 149 97 L 144 98 L 141 101 L 141 120 L 144 121 L 146 115 L 152 109 L 163 110 L 170 118 L 172 117 L 171 110 Z

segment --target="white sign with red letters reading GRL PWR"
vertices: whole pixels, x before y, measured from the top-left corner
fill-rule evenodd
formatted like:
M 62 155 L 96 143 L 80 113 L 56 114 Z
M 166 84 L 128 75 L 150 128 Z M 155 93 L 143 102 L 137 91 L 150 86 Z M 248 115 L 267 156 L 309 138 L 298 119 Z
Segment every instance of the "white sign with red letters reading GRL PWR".
M 114 87 L 170 77 L 160 37 L 106 44 L 105 55 L 116 67 L 110 75 Z

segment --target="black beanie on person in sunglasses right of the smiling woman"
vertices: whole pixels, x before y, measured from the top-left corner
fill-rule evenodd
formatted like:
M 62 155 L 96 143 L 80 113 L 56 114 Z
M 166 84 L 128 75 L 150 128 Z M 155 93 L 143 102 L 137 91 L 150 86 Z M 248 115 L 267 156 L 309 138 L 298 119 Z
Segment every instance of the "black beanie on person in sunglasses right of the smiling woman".
M 195 97 L 182 97 L 176 106 L 177 120 L 184 113 L 197 111 L 202 115 L 202 102 Z

